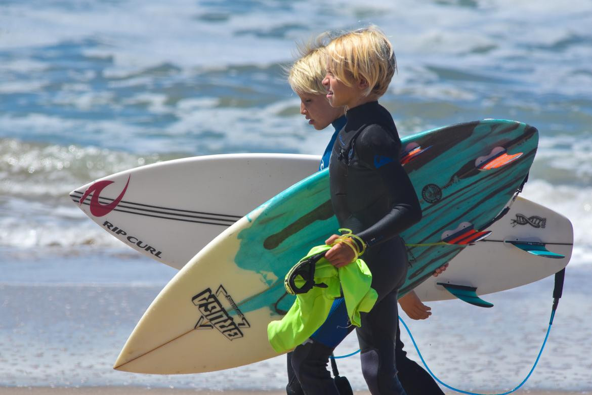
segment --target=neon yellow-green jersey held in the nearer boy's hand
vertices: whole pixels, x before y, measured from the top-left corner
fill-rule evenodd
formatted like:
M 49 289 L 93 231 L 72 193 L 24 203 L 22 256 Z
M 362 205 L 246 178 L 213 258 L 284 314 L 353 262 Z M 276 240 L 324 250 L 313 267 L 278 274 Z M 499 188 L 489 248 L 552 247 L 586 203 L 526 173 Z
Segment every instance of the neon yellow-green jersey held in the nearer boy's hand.
M 303 259 L 330 248 L 329 245 L 317 245 Z M 299 287 L 304 284 L 301 277 L 295 282 Z M 349 320 L 355 326 L 361 325 L 360 313 L 369 312 L 378 298 L 377 292 L 370 287 L 372 273 L 361 259 L 336 268 L 321 258 L 316 264 L 314 282 L 325 283 L 327 288 L 313 287 L 307 293 L 297 294 L 284 318 L 267 326 L 269 343 L 276 352 L 289 351 L 314 334 L 329 315 L 333 300 L 341 296 L 342 289 Z

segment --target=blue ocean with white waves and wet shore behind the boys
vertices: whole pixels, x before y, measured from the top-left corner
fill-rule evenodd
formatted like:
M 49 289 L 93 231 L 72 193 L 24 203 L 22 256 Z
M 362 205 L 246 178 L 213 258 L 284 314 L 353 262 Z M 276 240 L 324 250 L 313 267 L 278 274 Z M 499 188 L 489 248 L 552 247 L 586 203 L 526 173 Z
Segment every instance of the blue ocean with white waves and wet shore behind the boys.
M 67 194 L 173 158 L 321 154 L 330 131 L 298 114 L 283 67 L 298 42 L 372 22 L 395 47 L 381 103 L 401 135 L 482 118 L 539 129 L 523 196 L 570 218 L 575 246 L 527 388 L 592 390 L 592 4 L 568 5 L 0 1 L 0 386 L 284 386 L 281 357 L 202 375 L 112 371 L 175 271 L 99 229 Z M 410 326 L 444 381 L 510 388 L 536 357 L 551 291 L 546 279 L 491 295 L 487 311 L 433 303 L 432 318 Z M 355 347 L 355 337 L 340 346 Z M 340 366 L 364 388 L 359 360 Z

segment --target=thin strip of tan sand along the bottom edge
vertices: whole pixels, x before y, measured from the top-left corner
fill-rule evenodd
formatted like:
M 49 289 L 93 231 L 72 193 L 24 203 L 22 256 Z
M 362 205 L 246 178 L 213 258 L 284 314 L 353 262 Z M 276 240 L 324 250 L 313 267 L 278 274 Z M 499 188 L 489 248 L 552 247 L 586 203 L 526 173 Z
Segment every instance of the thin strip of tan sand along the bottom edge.
M 486 391 L 487 393 L 503 393 Z M 446 394 L 457 394 L 445 391 Z M 282 390 L 197 390 L 189 388 L 152 387 L 0 387 L 0 395 L 283 395 Z M 369 391 L 354 391 L 356 395 L 369 395 Z M 592 395 L 592 391 L 518 390 L 514 394 L 530 395 Z

